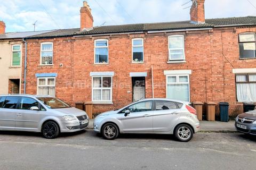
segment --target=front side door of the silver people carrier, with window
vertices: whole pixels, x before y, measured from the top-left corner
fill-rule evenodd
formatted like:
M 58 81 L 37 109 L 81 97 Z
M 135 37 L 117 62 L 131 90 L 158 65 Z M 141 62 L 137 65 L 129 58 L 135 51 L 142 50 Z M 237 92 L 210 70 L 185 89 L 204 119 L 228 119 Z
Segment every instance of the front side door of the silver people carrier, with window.
M 33 98 L 22 97 L 18 106 L 15 128 L 19 130 L 38 130 L 38 122 L 44 111 L 31 111 L 30 108 L 39 103 Z

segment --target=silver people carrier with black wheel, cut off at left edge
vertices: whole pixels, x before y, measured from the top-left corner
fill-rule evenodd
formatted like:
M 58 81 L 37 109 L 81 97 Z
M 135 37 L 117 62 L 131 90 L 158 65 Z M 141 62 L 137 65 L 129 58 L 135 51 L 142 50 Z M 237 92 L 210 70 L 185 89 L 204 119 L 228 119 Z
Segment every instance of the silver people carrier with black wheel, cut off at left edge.
M 84 111 L 51 96 L 0 95 L 0 130 L 42 132 L 47 139 L 89 125 Z

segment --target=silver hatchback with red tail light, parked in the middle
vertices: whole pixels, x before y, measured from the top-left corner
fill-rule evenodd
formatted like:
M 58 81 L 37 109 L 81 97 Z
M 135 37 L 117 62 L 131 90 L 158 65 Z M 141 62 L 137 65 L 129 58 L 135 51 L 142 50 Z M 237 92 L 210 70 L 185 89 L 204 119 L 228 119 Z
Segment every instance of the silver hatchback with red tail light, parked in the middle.
M 166 98 L 143 99 L 94 118 L 94 131 L 105 139 L 119 133 L 174 134 L 182 142 L 199 131 L 196 110 L 188 102 Z

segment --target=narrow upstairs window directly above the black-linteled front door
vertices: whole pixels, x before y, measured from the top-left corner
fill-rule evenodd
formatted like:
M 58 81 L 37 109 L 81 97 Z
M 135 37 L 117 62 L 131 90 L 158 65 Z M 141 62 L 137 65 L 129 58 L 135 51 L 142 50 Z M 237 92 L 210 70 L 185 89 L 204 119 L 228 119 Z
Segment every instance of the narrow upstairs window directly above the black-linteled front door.
M 143 63 L 143 39 L 135 38 L 132 40 L 132 62 Z

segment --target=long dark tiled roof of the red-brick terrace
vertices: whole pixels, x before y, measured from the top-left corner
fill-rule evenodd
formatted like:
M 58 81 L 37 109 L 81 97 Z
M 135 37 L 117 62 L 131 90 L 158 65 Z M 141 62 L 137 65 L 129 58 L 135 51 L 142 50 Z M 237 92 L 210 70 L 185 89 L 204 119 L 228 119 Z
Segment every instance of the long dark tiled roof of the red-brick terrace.
M 80 31 L 79 28 L 60 29 L 51 32 L 41 33 L 27 38 L 48 38 L 48 37 L 67 37 L 79 35 L 99 35 L 107 33 L 124 33 L 124 32 L 142 32 L 142 31 L 159 31 L 175 29 L 203 29 L 215 27 L 231 27 L 236 25 L 256 25 L 256 16 L 244 16 L 234 18 L 217 18 L 206 19 L 205 23 L 197 24 L 191 21 L 177 22 L 158 22 L 158 23 L 138 23 L 125 25 L 108 25 L 93 27 Z

